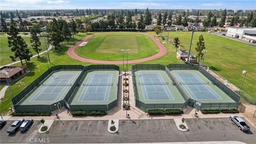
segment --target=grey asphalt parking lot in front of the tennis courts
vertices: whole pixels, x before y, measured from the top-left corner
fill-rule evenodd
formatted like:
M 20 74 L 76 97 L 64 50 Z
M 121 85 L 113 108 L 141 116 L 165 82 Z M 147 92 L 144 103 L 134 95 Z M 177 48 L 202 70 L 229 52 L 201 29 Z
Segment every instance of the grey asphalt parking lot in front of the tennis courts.
M 107 131 L 108 121 L 54 121 L 47 133 L 37 132 L 36 121 L 25 132 L 7 134 L 12 122 L 1 130 L 1 143 L 119 143 L 176 141 L 242 141 L 256 143 L 255 128 L 242 132 L 229 118 L 186 119 L 188 132 L 181 132 L 173 119 L 122 120 L 117 133 Z M 39 141 L 38 141 L 39 140 Z

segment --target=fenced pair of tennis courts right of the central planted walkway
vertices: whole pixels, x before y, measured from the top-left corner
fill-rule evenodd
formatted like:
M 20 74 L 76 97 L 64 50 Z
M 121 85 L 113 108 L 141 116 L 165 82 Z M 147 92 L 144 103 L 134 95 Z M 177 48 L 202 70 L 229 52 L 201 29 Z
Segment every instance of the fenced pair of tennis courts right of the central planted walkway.
M 240 97 L 197 65 L 132 66 L 136 106 L 149 109 L 237 108 Z

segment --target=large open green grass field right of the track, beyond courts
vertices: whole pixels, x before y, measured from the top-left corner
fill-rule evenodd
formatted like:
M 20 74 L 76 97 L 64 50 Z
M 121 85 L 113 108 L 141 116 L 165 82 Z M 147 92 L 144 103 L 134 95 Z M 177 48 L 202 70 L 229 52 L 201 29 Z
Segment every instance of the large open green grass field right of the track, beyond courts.
M 201 34 L 204 36 L 206 50 L 208 51 L 205 55 L 205 65 L 237 87 L 241 85 L 243 80 L 242 71 L 247 70 L 248 73 L 242 90 L 256 99 L 256 46 L 209 33 L 196 32 L 191 46 L 191 53 L 194 55 L 196 55 L 196 42 Z M 167 32 L 164 35 L 167 36 Z M 179 37 L 180 45 L 188 50 L 191 32 L 171 32 L 169 37 L 170 39 Z

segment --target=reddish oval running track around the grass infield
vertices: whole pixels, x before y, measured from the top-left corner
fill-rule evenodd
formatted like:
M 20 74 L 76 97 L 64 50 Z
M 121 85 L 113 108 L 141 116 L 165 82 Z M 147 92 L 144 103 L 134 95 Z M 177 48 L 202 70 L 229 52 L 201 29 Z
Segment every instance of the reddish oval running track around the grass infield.
M 108 33 L 116 33 L 116 32 L 108 32 Z M 130 32 L 130 33 L 135 33 L 135 32 Z M 81 43 L 87 41 L 88 38 L 90 38 L 90 37 L 92 37 L 94 35 L 99 35 L 99 34 L 101 34 L 101 33 L 93 34 L 93 35 L 88 35 L 88 36 L 84 37 L 81 41 L 77 42 L 75 45 L 69 47 L 68 52 L 67 52 L 69 57 L 71 57 L 73 59 L 76 59 L 76 60 L 79 60 L 79 61 L 82 61 L 82 62 L 101 63 L 101 64 L 113 64 L 113 65 L 122 64 L 123 61 L 103 61 L 103 60 L 86 59 L 86 58 L 80 57 L 79 55 L 77 55 L 75 53 L 75 49 Z M 135 33 L 135 34 L 143 34 L 143 35 L 146 35 L 146 36 L 150 37 L 155 42 L 155 44 L 159 47 L 159 52 L 157 54 L 151 56 L 151 57 L 148 57 L 148 58 L 143 58 L 143 59 L 138 59 L 138 60 L 129 60 L 128 63 L 139 63 L 139 62 L 154 60 L 154 59 L 162 57 L 166 53 L 165 47 L 153 35 L 144 34 L 144 33 Z

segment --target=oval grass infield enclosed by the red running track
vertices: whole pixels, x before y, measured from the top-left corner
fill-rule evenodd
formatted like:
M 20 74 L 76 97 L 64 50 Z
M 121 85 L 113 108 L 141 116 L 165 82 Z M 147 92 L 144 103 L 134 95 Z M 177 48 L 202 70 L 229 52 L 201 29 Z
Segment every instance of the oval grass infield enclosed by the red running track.
M 122 60 L 121 49 L 130 49 L 129 60 L 147 58 L 159 52 L 148 36 L 133 33 L 106 33 L 92 36 L 87 44 L 77 47 L 77 55 L 94 60 Z M 99 57 L 100 55 L 100 57 Z

